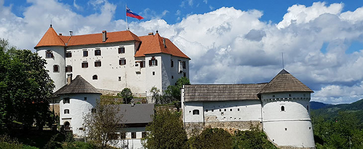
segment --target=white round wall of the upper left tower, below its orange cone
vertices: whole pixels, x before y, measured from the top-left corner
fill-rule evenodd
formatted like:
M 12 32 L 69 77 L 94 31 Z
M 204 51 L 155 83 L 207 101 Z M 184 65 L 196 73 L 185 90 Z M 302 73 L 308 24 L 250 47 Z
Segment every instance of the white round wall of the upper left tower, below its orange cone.
M 53 58 L 46 58 L 46 51 L 51 50 L 53 53 Z M 46 46 L 38 47 L 36 51 L 40 57 L 46 60 L 47 64 L 45 69 L 49 71 L 50 78 L 54 81 L 55 88 L 53 92 L 57 91 L 59 88 L 66 84 L 66 74 L 65 70 L 65 52 L 63 46 Z M 59 72 L 53 72 L 53 65 L 58 65 Z

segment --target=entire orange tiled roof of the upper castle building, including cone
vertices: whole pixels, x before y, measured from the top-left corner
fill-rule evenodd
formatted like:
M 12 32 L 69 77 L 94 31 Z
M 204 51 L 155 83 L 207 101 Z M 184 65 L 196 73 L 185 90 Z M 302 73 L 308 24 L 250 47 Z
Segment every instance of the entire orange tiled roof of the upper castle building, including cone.
M 165 48 L 163 44 L 164 37 L 161 37 L 159 33 L 156 33 L 155 35 L 138 37 L 131 31 L 117 31 L 108 32 L 106 36 L 107 39 L 105 42 L 102 42 L 102 33 L 62 36 L 57 35 L 54 29 L 50 27 L 34 48 L 41 46 L 91 45 L 135 40 L 142 42 L 139 50 L 135 54 L 135 57 L 144 57 L 145 54 L 166 53 L 173 56 L 190 59 L 167 38 L 165 38 Z

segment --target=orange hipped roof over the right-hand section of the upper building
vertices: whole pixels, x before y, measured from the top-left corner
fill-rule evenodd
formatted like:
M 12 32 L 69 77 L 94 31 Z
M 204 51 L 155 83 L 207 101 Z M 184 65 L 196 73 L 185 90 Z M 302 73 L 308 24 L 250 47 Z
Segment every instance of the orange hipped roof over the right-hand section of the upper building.
M 172 41 L 168 38 L 161 37 L 159 33 L 140 36 L 140 39 L 142 43 L 135 57 L 144 57 L 146 54 L 166 53 L 172 56 L 190 59 Z M 163 39 L 165 39 L 166 48 L 164 47 Z

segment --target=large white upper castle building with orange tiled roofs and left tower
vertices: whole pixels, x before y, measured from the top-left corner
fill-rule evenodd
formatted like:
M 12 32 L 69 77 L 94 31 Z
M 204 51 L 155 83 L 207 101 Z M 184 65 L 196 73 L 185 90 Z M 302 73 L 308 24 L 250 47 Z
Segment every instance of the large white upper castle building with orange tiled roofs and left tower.
M 165 90 L 180 77 L 189 77 L 189 60 L 167 38 L 131 31 L 102 31 L 64 36 L 51 26 L 34 47 L 47 61 L 46 69 L 57 91 L 67 77 L 82 75 L 103 93 L 128 87 L 139 96 L 149 96 L 151 87 Z

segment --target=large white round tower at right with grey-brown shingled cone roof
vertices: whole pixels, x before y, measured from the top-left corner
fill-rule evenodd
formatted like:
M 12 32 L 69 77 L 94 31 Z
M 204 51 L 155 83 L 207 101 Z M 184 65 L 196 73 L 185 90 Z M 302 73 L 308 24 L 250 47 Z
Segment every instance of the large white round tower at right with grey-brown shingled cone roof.
M 315 147 L 309 109 L 312 92 L 285 70 L 261 89 L 263 130 L 274 144 Z

